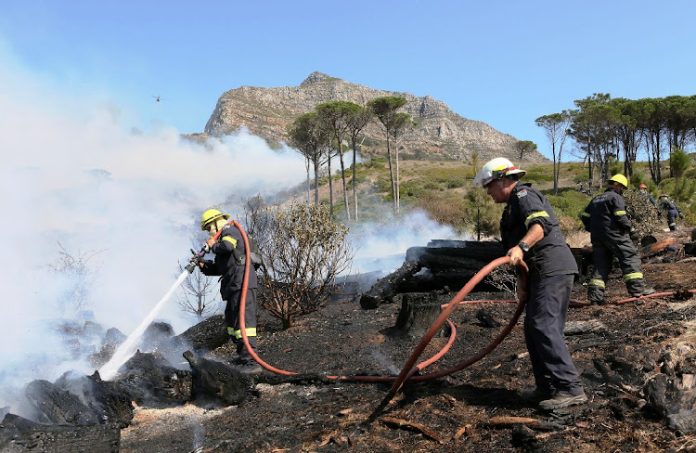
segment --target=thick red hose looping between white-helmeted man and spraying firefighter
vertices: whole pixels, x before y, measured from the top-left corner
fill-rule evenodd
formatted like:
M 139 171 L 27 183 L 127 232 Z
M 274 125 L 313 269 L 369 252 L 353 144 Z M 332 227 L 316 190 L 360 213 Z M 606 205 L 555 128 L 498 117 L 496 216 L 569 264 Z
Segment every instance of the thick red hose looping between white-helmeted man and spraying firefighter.
M 230 224 L 234 225 L 239 232 L 242 235 L 242 239 L 244 240 L 244 247 L 245 250 L 250 250 L 250 244 L 249 244 L 249 238 L 246 235 L 246 232 L 242 228 L 242 226 L 235 220 L 232 220 L 229 222 Z M 252 356 L 252 358 L 263 368 L 266 370 L 279 374 L 279 375 L 284 375 L 284 376 L 293 376 L 297 375 L 299 373 L 294 372 L 294 371 L 288 371 L 288 370 L 283 370 L 280 368 L 276 368 L 273 365 L 270 365 L 269 363 L 265 362 L 261 357 L 258 356 L 256 351 L 251 347 L 251 344 L 249 343 L 249 338 L 247 337 L 246 334 L 246 322 L 245 322 L 245 314 L 246 314 L 246 293 L 248 290 L 248 282 L 249 282 L 249 269 L 251 268 L 251 260 L 249 257 L 249 253 L 245 254 L 245 263 L 244 263 L 244 278 L 243 278 L 243 283 L 242 283 L 242 293 L 240 297 L 240 302 L 239 302 L 239 324 L 240 324 L 240 330 L 242 334 L 242 341 L 244 342 L 244 347 L 247 349 L 249 352 L 249 355 Z M 386 401 L 391 400 L 391 398 L 396 394 L 396 392 L 401 388 L 403 385 L 404 381 L 406 380 L 411 380 L 413 382 L 421 382 L 425 380 L 430 380 L 430 379 L 437 379 L 443 376 L 446 376 L 448 374 L 454 373 L 456 371 L 460 371 L 476 362 L 481 360 L 486 354 L 490 353 L 493 349 L 495 349 L 498 344 L 507 336 L 512 328 L 515 326 L 517 323 L 517 320 L 519 319 L 520 315 L 522 314 L 522 310 L 524 309 L 524 305 L 526 303 L 526 300 L 521 300 L 518 303 L 517 310 L 515 311 L 515 314 L 513 315 L 512 319 L 508 323 L 508 325 L 496 336 L 496 338 L 493 339 L 493 341 L 484 349 L 482 349 L 478 354 L 475 356 L 464 360 L 446 370 L 438 371 L 435 373 L 427 374 L 427 375 L 422 375 L 422 376 L 414 376 L 417 372 L 423 370 L 427 366 L 431 365 L 432 363 L 436 362 L 442 356 L 444 356 L 449 349 L 451 348 L 452 344 L 454 344 L 454 340 L 456 337 L 456 328 L 454 324 L 448 319 L 449 315 L 454 311 L 454 309 L 457 307 L 457 304 L 464 300 L 464 298 L 471 292 L 471 290 L 474 289 L 474 287 L 486 276 L 488 275 L 493 269 L 495 269 L 498 266 L 508 264 L 510 262 L 509 257 L 502 257 L 498 258 L 497 260 L 494 260 L 490 262 L 488 265 L 486 265 L 483 269 L 481 269 L 474 277 L 471 278 L 467 282 L 467 284 L 454 296 L 454 298 L 450 301 L 449 304 L 447 304 L 447 307 L 440 313 L 438 318 L 435 320 L 433 325 L 428 329 L 426 334 L 423 336 L 421 339 L 420 343 L 414 350 L 414 352 L 411 354 L 411 357 L 409 357 L 408 361 L 404 365 L 404 368 L 402 369 L 401 373 L 398 376 L 364 376 L 364 375 L 347 375 L 347 376 L 324 376 L 325 378 L 328 379 L 334 379 L 334 380 L 339 380 L 339 381 L 353 381 L 353 382 L 393 382 L 392 384 L 392 389 L 389 392 L 388 399 L 385 399 Z M 522 276 L 523 278 L 526 279 L 526 271 L 527 271 L 527 266 L 524 264 L 524 262 L 521 263 L 520 267 L 523 269 Z M 435 355 L 430 357 L 429 359 L 420 362 L 416 364 L 416 361 L 418 360 L 418 357 L 422 354 L 423 350 L 426 348 L 426 346 L 430 343 L 432 338 L 435 336 L 435 334 L 440 330 L 440 328 L 444 325 L 444 323 L 447 322 L 448 325 L 450 326 L 451 329 L 451 335 L 450 338 L 448 339 L 447 343 L 445 346 L 437 352 Z

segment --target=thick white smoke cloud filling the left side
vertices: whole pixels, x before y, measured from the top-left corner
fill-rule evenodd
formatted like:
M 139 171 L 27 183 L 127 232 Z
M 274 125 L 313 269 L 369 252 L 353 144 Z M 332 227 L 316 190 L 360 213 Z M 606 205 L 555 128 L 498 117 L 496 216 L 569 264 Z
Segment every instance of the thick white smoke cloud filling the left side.
M 117 100 L 63 96 L 1 45 L 0 67 L 2 407 L 8 384 L 55 379 L 79 356 L 55 320 L 93 317 L 128 333 L 178 275 L 203 209 L 238 212 L 236 202 L 295 186 L 305 170 L 297 153 L 245 131 L 208 148 L 173 129 L 134 133 Z M 169 308 L 167 321 L 188 327 Z

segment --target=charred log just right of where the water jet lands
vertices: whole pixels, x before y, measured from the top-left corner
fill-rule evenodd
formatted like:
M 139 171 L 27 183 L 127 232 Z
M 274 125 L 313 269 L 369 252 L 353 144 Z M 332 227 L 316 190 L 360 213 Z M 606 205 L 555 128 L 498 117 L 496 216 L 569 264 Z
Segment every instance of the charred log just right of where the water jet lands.
M 191 397 L 191 372 L 174 368 L 159 354 L 136 351 L 118 370 L 116 381 L 140 405 L 168 407 Z

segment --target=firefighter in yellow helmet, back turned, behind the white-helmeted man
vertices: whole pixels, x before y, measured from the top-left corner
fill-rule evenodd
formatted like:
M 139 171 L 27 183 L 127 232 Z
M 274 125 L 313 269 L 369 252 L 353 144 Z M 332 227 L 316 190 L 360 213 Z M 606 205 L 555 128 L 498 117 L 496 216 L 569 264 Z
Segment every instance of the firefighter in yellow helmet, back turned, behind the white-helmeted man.
M 655 292 L 645 285 L 640 270 L 640 256 L 630 237 L 634 230 L 621 195 L 628 188 L 628 180 L 624 175 L 616 174 L 607 183 L 604 193 L 594 197 L 581 214 L 592 240 L 595 271 L 587 287 L 587 297 L 594 304 L 604 303 L 604 292 L 614 257 L 619 260 L 624 283 L 631 296 Z

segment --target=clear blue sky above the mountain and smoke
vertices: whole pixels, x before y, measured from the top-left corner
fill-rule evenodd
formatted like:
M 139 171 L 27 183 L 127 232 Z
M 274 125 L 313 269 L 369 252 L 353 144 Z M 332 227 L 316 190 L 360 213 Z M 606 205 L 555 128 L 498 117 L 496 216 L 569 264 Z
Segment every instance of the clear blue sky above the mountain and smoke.
M 686 0 L 0 3 L 0 60 L 144 130 L 202 131 L 224 91 L 315 70 L 431 95 L 542 151 L 534 119 L 574 99 L 696 94 Z

